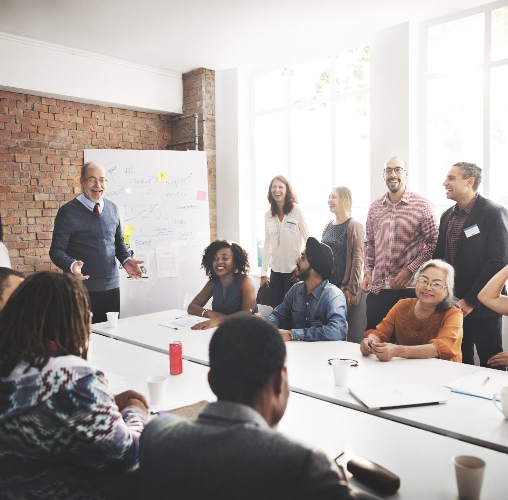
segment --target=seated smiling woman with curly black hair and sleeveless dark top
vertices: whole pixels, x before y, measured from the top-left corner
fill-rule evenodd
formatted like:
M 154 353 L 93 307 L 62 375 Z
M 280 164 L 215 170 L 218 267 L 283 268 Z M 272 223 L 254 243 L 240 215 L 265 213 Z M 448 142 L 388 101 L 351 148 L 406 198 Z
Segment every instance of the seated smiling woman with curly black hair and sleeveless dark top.
M 208 283 L 194 297 L 188 314 L 209 318 L 193 330 L 206 330 L 223 323 L 231 316 L 257 312 L 256 289 L 248 276 L 249 256 L 237 243 L 216 240 L 205 248 L 201 268 Z M 212 310 L 205 304 L 212 298 Z

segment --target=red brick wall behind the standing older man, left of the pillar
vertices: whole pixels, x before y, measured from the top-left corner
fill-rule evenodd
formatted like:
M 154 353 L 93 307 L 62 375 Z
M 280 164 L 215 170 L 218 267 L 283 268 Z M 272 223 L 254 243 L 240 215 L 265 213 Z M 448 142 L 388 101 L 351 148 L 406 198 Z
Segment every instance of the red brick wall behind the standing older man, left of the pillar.
M 85 148 L 163 149 L 166 118 L 0 91 L 0 215 L 13 269 L 56 269 L 54 217 L 81 192 Z

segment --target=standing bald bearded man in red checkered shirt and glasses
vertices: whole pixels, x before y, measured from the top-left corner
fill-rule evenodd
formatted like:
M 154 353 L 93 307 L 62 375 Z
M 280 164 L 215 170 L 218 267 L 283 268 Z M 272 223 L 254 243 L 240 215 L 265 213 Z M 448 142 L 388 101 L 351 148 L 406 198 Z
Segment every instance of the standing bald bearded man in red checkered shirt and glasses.
M 362 283 L 368 293 L 367 330 L 375 329 L 401 299 L 415 297 L 410 283 L 436 247 L 434 205 L 409 190 L 407 176 L 405 161 L 390 158 L 383 170 L 388 193 L 369 208 Z

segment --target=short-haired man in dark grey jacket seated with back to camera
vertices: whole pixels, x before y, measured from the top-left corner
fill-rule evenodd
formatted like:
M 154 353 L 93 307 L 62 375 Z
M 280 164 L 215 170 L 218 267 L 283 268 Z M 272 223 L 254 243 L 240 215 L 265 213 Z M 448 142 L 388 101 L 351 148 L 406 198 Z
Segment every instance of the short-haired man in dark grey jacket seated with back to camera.
M 232 318 L 213 334 L 209 354 L 217 403 L 197 421 L 167 414 L 143 431 L 143 498 L 353 498 L 323 454 L 273 429 L 289 396 L 277 328 Z

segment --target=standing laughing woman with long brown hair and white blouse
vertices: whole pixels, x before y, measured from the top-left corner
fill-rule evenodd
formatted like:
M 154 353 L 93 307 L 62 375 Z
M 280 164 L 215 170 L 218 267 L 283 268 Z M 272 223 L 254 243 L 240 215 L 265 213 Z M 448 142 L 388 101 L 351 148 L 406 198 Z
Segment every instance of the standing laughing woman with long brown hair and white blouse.
M 267 199 L 270 210 L 265 214 L 261 286 L 272 287 L 272 307 L 275 309 L 297 281 L 294 275 L 296 259 L 310 234 L 288 179 L 283 176 L 274 177 L 268 187 Z M 268 281 L 266 273 L 270 258 L 271 272 Z

